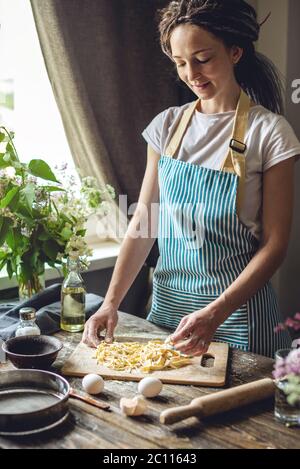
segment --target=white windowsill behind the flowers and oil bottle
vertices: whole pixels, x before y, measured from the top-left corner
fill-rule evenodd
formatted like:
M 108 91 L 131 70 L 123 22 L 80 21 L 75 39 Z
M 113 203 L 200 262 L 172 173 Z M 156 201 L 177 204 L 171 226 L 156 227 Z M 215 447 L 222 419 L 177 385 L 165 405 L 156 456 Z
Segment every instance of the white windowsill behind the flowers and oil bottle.
M 99 244 L 92 244 L 93 256 L 90 259 L 91 263 L 88 272 L 114 267 L 120 252 L 120 247 L 120 244 L 114 241 L 103 241 Z M 61 278 L 58 271 L 53 267 L 46 266 L 45 280 L 55 280 L 58 278 Z M 5 269 L 0 272 L 0 291 L 15 288 L 17 285 L 16 279 L 12 278 L 10 280 Z

